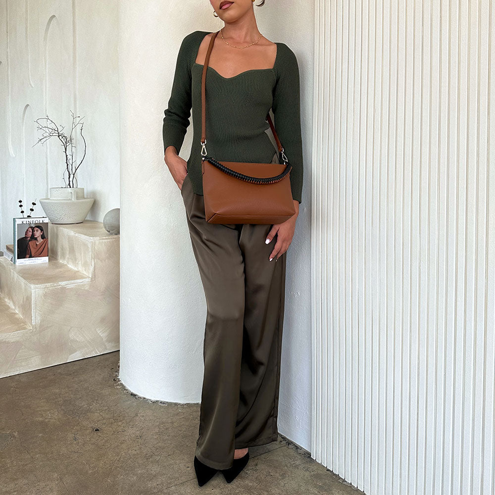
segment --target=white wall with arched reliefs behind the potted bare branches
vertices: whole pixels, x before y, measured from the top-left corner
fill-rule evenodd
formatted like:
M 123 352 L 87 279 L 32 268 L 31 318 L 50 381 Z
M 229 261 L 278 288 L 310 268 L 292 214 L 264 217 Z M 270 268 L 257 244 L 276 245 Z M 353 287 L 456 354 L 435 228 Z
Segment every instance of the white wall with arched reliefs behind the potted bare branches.
M 87 218 L 120 206 L 117 61 L 116 0 L 0 0 L 0 250 L 13 243 L 18 200 L 25 216 L 35 200 L 33 216 L 44 216 L 39 199 L 65 185 L 60 142 L 33 147 L 34 120 L 47 114 L 67 135 L 70 110 L 84 117 L 76 178 L 95 198 Z

